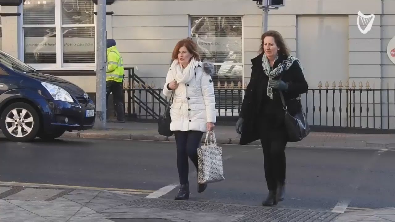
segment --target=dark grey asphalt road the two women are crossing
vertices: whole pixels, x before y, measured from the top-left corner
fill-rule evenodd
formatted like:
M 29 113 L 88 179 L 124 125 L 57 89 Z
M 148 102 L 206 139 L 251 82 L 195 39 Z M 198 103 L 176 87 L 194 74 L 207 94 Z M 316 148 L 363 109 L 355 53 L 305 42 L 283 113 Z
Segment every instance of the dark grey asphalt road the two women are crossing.
M 286 199 L 278 207 L 331 211 L 394 207 L 395 152 L 287 149 Z M 223 145 L 225 181 L 190 200 L 260 205 L 267 194 L 260 147 Z M 175 144 L 111 139 L 14 143 L 0 138 L 0 181 L 158 190 L 178 183 Z M 162 196 L 173 199 L 178 188 Z

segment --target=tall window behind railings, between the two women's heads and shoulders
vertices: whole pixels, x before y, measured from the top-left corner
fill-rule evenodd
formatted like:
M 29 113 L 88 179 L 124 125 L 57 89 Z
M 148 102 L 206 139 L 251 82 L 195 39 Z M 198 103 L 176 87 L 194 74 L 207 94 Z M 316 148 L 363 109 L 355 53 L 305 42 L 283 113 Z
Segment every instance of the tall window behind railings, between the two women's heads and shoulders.
M 201 59 L 213 62 L 216 67 L 213 82 L 219 115 L 225 115 L 224 109 L 227 115 L 235 113 L 242 93 L 229 88 L 243 85 L 241 17 L 191 17 L 190 22 L 190 37 L 198 45 Z

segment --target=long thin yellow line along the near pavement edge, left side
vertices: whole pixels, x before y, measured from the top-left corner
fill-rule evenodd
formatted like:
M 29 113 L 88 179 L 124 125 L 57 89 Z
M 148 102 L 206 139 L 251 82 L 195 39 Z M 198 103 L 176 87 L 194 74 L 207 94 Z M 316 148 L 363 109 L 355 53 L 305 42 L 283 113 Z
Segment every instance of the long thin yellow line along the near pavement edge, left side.
M 135 194 L 150 194 L 154 190 L 135 190 L 135 189 L 122 189 L 122 188 L 102 188 L 102 187 L 91 187 L 91 186 L 69 186 L 69 185 L 58 185 L 58 184 L 40 184 L 40 183 L 23 183 L 23 182 L 0 182 L 2 186 L 24 186 L 24 187 L 36 187 L 36 188 L 63 188 L 63 189 L 81 189 L 81 190 L 108 190 L 108 191 L 119 191 L 119 192 L 135 192 Z

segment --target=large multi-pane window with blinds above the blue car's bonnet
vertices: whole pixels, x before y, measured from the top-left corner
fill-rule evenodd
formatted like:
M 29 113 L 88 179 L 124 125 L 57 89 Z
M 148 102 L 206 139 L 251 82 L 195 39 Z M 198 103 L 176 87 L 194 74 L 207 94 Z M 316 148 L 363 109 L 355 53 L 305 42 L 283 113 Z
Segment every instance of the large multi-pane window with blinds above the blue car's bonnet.
M 34 67 L 93 67 L 94 20 L 92 0 L 26 0 L 24 62 Z

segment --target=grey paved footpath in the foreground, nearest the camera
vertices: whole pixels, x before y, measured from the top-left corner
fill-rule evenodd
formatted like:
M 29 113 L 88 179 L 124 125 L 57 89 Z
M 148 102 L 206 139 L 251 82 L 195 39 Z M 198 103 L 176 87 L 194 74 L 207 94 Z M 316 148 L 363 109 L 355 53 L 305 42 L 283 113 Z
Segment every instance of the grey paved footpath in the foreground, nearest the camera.
M 395 218 L 395 208 L 339 214 L 147 198 L 107 190 L 0 187 L 0 222 L 390 222 Z

